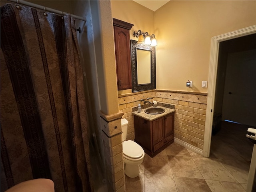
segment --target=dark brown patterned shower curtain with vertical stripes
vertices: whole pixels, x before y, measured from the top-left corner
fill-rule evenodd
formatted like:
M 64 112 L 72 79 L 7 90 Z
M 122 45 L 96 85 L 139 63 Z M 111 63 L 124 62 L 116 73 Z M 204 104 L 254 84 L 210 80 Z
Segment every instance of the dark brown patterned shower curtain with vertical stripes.
M 49 178 L 92 191 L 83 73 L 74 19 L 1 7 L 1 191 Z

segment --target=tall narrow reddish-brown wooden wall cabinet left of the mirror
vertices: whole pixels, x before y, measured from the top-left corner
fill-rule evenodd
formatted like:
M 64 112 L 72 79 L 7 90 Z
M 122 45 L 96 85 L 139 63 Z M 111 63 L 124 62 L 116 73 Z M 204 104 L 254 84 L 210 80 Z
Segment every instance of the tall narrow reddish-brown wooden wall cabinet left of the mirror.
M 113 18 L 118 90 L 132 88 L 130 29 L 133 24 Z

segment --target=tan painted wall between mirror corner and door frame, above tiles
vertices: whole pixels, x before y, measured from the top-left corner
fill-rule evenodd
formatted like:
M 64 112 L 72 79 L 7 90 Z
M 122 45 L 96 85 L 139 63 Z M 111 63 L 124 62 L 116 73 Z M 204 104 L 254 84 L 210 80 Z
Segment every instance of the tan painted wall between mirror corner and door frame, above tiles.
M 154 17 L 156 88 L 207 92 L 211 38 L 255 25 L 256 1 L 170 1 Z

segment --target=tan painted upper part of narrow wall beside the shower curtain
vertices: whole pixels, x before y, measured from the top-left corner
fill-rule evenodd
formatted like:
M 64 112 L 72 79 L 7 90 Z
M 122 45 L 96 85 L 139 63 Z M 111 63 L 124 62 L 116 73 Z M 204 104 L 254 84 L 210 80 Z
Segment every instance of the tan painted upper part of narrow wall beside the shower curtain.
M 100 16 L 99 33 L 94 36 L 94 40 L 99 43 L 99 46 L 95 47 L 96 53 L 102 53 L 101 63 L 97 62 L 100 109 L 104 114 L 109 115 L 118 113 L 119 111 L 116 84 L 114 29 L 110 1 L 98 1 L 98 9 Z

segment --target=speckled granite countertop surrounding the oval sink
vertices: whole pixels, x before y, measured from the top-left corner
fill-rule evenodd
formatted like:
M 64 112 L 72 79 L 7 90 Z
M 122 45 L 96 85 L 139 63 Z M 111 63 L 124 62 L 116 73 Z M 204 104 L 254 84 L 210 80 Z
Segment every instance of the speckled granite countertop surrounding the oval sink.
M 159 107 L 159 106 L 158 106 Z M 148 107 L 148 108 L 153 108 L 153 107 Z M 145 108 L 145 109 L 141 109 L 141 112 L 138 113 L 138 111 L 134 111 L 132 112 L 132 114 L 136 115 L 136 116 L 139 116 L 141 118 L 144 118 L 146 120 L 149 120 L 149 121 L 154 121 L 160 117 L 163 117 L 163 116 L 166 116 L 170 113 L 173 113 L 175 112 L 175 109 L 170 109 L 170 108 L 166 108 L 166 107 L 162 107 L 160 106 L 159 108 L 164 108 L 165 112 L 161 113 L 161 114 L 155 114 L 155 115 L 152 115 L 152 114 L 147 114 L 145 113 L 144 111 L 148 108 Z

